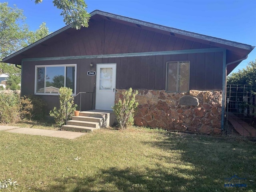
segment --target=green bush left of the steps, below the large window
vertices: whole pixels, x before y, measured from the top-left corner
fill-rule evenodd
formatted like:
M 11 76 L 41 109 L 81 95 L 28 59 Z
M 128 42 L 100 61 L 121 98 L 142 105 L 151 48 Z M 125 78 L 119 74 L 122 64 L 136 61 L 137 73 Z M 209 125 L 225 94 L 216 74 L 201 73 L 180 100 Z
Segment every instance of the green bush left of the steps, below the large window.
M 56 122 L 56 125 L 62 126 L 66 122 L 66 108 L 68 120 L 72 118 L 74 110 L 76 110 L 76 104 L 72 99 L 72 89 L 67 87 L 61 87 L 59 90 L 60 96 L 60 108 L 57 110 L 56 107 L 50 110 L 50 116 L 52 116 Z

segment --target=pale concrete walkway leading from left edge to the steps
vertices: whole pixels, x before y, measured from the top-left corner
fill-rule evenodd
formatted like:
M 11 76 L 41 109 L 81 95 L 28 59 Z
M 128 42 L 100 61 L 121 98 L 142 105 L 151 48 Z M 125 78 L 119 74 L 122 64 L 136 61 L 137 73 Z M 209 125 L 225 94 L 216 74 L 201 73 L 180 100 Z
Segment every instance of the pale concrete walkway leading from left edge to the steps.
M 45 130 L 45 129 L 34 129 L 34 128 L 21 128 L 16 126 L 0 126 L 0 131 L 6 131 L 11 133 L 21 133 L 28 135 L 40 135 L 48 137 L 58 137 L 65 139 L 75 139 L 86 133 L 73 132 L 73 131 L 57 131 L 57 130 Z

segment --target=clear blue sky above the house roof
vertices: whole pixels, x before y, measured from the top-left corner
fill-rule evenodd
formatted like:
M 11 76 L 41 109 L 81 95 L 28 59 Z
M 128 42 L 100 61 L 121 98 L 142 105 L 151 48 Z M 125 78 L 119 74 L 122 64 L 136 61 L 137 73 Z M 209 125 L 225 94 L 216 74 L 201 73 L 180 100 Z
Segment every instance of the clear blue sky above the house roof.
M 65 26 L 52 0 L 0 0 L 24 10 L 30 30 L 46 22 L 50 32 Z M 86 0 L 96 9 L 168 27 L 256 46 L 256 0 Z M 233 71 L 256 59 L 256 48 Z

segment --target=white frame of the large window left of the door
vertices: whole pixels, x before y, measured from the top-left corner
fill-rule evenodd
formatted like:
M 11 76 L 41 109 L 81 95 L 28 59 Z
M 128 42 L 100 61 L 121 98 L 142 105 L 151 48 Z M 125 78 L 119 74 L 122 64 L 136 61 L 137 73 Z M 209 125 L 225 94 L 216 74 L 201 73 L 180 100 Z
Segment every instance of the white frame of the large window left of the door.
M 35 95 L 60 95 L 59 93 L 37 93 L 36 92 L 36 85 L 37 85 L 37 68 L 39 67 L 65 67 L 65 77 L 66 77 L 66 67 L 75 67 L 75 90 L 74 90 L 74 94 L 72 94 L 73 96 L 76 95 L 76 70 L 77 70 L 77 65 L 76 64 L 60 64 L 60 65 L 36 65 L 35 66 L 35 84 L 34 84 L 34 94 Z M 46 75 L 46 72 L 44 73 L 44 75 Z M 44 77 L 44 80 L 46 79 L 46 77 Z M 66 84 L 66 78 L 64 78 L 64 84 Z M 46 81 L 44 81 L 44 87 L 46 86 Z

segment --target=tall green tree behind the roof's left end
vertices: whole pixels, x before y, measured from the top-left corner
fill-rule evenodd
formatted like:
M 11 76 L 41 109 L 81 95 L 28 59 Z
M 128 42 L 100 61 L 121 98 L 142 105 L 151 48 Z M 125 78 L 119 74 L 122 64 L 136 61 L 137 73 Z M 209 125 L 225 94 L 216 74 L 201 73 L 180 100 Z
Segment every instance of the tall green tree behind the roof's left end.
M 14 64 L 2 63 L 2 58 L 40 40 L 49 34 L 45 23 L 42 23 L 36 32 L 29 31 L 25 24 L 26 17 L 23 10 L 9 7 L 8 3 L 0 3 L 0 73 L 8 74 L 8 87 L 18 88 L 21 70 Z

